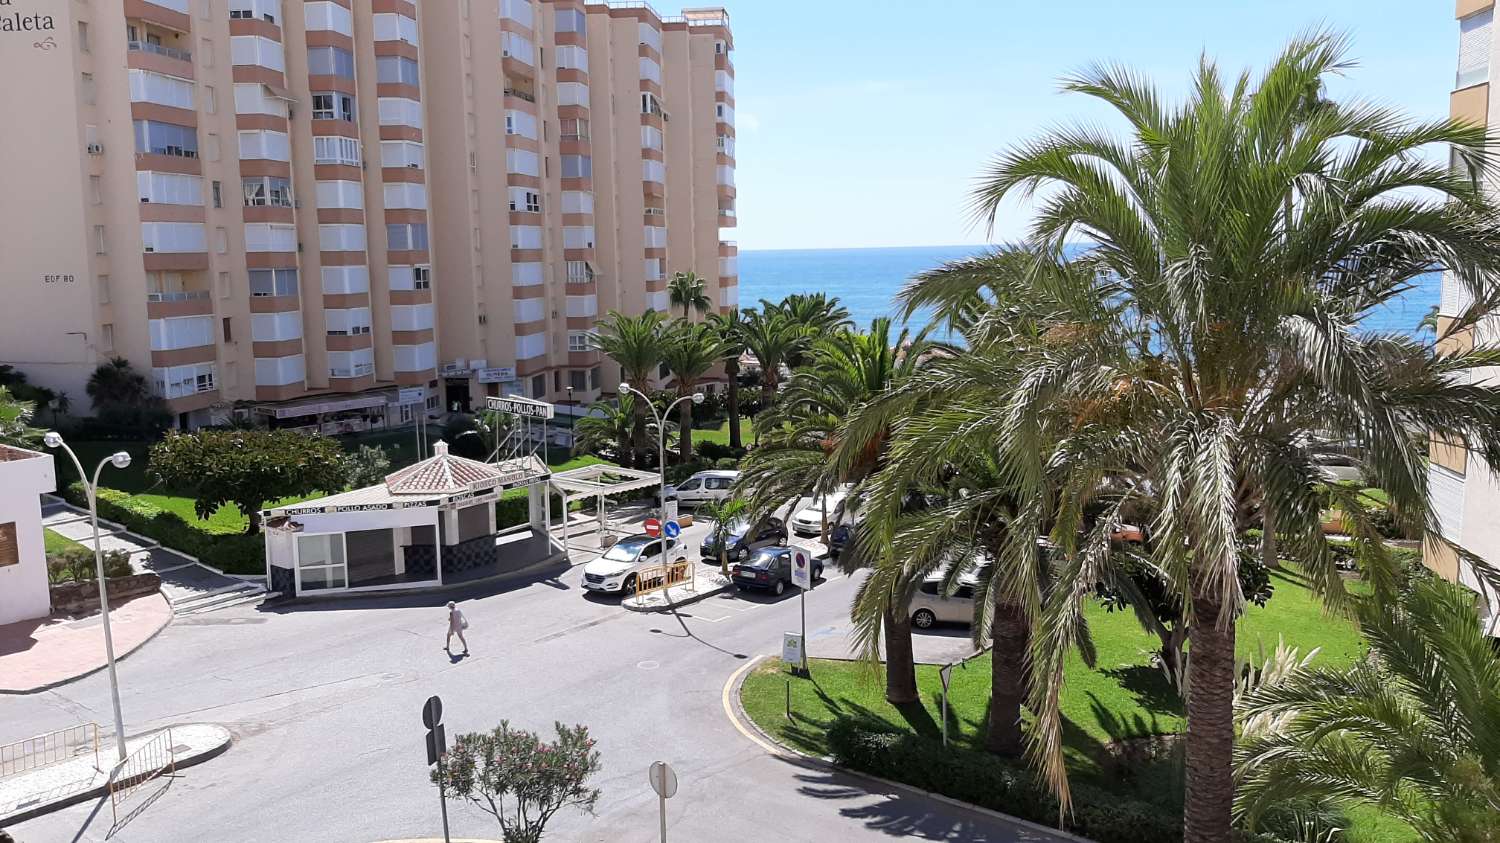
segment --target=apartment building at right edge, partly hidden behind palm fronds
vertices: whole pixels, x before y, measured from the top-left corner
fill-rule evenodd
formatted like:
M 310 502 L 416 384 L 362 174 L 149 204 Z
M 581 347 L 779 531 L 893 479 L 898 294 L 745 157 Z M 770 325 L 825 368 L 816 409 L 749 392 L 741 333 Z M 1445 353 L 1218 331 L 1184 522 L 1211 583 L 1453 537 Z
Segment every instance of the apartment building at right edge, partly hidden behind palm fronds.
M 1454 118 L 1488 126 L 1491 132 L 1500 130 L 1496 124 L 1500 104 L 1492 100 L 1496 90 L 1490 84 L 1491 68 L 1500 58 L 1496 52 L 1500 45 L 1492 36 L 1494 6 L 1496 0 L 1458 0 L 1458 75 L 1449 100 Z M 1485 177 L 1485 188 L 1500 195 L 1500 182 L 1492 174 Z M 1437 310 L 1438 336 L 1444 338 L 1438 344 L 1440 351 L 1473 348 L 1476 333 L 1485 344 L 1500 340 L 1500 316 L 1488 316 L 1474 328 L 1444 336 L 1454 318 L 1472 303 L 1467 291 L 1450 274 L 1444 274 Z M 1500 564 L 1500 520 L 1494 518 L 1500 512 L 1500 476 L 1496 468 L 1443 440 L 1431 442 L 1430 458 L 1430 496 L 1443 537 L 1491 564 Z M 1500 636 L 1500 596 L 1458 554 L 1446 544 L 1430 542 L 1422 560 L 1446 579 L 1472 588 L 1479 596 L 1479 612 L 1488 633 Z

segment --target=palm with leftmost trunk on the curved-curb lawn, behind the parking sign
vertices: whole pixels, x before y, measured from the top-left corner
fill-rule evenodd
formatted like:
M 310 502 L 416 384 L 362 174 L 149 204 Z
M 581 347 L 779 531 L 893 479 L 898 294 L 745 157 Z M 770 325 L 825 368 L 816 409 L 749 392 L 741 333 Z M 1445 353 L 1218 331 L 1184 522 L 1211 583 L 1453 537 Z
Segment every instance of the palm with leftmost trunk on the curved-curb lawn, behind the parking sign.
M 858 490 L 882 465 L 890 432 L 867 428 L 854 438 L 843 420 L 909 378 L 928 348 L 926 334 L 912 338 L 903 330 L 892 339 L 891 330 L 891 320 L 879 318 L 867 333 L 840 332 L 812 345 L 808 364 L 792 375 L 776 404 L 764 411 L 765 418 L 758 420 L 758 436 L 764 428 L 765 438 L 741 464 L 740 488 L 750 490 L 752 512 L 766 514 L 807 494 L 826 496 L 843 483 L 855 484 L 849 508 L 860 508 Z M 861 536 L 862 526 L 855 534 L 849 554 L 840 560 L 846 570 L 879 555 L 878 542 Z M 896 588 L 880 598 L 880 634 L 867 639 L 866 651 L 878 657 L 879 642 L 885 642 L 886 699 L 914 702 L 909 594 Z

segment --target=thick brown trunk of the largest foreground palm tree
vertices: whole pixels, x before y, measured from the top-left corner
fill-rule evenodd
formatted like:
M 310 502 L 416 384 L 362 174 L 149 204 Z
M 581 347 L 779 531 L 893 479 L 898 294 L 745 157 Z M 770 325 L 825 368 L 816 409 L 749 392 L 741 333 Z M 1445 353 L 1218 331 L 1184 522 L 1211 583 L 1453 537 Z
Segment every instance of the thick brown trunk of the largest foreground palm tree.
M 1218 624 L 1216 596 L 1194 594 L 1192 616 L 1182 843 L 1228 843 L 1234 798 L 1234 624 Z

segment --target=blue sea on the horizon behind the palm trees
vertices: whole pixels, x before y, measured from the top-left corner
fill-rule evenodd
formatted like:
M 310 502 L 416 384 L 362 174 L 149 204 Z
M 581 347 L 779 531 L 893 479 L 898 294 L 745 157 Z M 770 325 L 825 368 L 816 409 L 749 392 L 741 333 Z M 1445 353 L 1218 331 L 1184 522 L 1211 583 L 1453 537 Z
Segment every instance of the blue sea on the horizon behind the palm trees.
M 984 246 L 741 250 L 740 306 L 820 291 L 837 296 L 855 324 L 868 327 L 876 316 L 898 316 L 896 294 L 912 276 L 984 250 Z M 1401 298 L 1370 314 L 1364 327 L 1419 336 L 1422 318 L 1437 306 L 1440 284 L 1438 273 L 1420 276 Z

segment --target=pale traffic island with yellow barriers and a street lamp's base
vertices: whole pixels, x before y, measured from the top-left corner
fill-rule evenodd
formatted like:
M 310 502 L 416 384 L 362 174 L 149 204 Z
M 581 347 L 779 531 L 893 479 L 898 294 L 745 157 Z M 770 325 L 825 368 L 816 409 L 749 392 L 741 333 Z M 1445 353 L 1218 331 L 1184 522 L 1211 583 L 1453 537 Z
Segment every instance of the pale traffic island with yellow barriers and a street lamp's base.
M 136 752 L 158 734 L 160 729 L 126 740 L 126 753 Z M 220 754 L 230 748 L 231 740 L 226 729 L 208 723 L 171 726 L 171 738 L 176 770 Z M 114 764 L 114 741 L 100 740 L 98 758 L 88 752 L 51 766 L 0 778 L 0 828 L 106 795 Z

